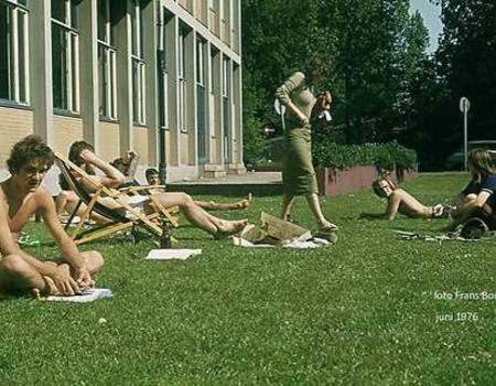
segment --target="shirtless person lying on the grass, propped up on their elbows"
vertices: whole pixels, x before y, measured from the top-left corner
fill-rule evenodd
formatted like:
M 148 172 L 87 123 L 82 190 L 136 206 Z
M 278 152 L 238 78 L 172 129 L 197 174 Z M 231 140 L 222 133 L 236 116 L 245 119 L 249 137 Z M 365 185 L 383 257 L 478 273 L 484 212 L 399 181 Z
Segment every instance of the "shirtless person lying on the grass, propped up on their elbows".
M 441 204 L 424 206 L 416 197 L 400 187 L 396 187 L 387 178 L 379 178 L 373 183 L 374 193 L 387 199 L 388 206 L 385 213 L 362 213 L 360 218 L 392 221 L 399 212 L 410 218 L 440 218 L 448 217 L 451 207 Z

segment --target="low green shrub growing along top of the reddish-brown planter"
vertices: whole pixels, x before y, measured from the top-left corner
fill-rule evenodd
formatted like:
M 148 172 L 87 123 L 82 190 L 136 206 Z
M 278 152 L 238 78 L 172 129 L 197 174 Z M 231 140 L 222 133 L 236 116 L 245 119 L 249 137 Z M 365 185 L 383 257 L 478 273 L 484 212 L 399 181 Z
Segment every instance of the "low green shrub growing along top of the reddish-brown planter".
M 379 170 L 412 170 L 417 167 L 417 152 L 398 142 L 342 146 L 319 143 L 314 146 L 315 165 L 349 169 L 355 165 L 375 165 Z

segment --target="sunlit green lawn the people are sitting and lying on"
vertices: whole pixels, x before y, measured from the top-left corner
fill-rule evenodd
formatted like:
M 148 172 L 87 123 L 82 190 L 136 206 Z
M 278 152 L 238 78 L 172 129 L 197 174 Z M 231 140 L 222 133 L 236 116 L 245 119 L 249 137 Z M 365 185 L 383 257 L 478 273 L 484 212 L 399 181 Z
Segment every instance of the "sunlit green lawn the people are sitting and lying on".
M 423 175 L 406 189 L 448 203 L 466 180 Z M 328 248 L 245 249 L 187 226 L 174 230 L 181 246 L 203 249 L 188 261 L 145 261 L 150 240 L 86 247 L 105 254 L 97 282 L 115 298 L 1 301 L 0 385 L 494 385 L 496 300 L 434 293 L 496 293 L 496 242 L 397 240 L 391 229 L 431 233 L 445 221 L 357 219 L 384 210 L 371 193 L 323 205 L 341 227 Z M 255 197 L 248 217 L 279 206 Z M 294 217 L 312 224 L 303 199 Z M 477 321 L 436 321 L 464 312 Z

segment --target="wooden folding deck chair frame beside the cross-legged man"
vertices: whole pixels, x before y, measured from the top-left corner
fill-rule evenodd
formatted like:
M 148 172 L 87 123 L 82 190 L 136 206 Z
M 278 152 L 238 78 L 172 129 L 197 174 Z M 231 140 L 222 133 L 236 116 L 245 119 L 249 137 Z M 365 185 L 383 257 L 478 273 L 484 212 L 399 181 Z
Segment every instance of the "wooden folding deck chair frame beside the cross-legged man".
M 150 200 L 155 205 L 158 211 L 155 211 L 155 213 L 153 214 L 145 215 L 128 203 L 128 192 L 121 191 L 115 193 L 110 189 L 95 182 L 95 180 L 91 179 L 89 174 L 87 174 L 83 169 L 71 162 L 65 157 L 57 153 L 55 154 L 55 157 L 56 163 L 61 169 L 63 178 L 66 179 L 71 189 L 79 197 L 79 202 L 72 213 L 69 221 L 67 222 L 67 233 L 68 225 L 78 212 L 80 205 L 84 203 L 87 206 L 85 212 L 79 216 L 79 224 L 75 227 L 74 232 L 69 234 L 71 238 L 76 243 L 76 245 L 82 245 L 84 243 L 88 243 L 128 228 L 132 228 L 132 230 L 134 230 L 137 226 L 143 227 L 145 230 L 152 233 L 153 235 L 161 236 L 163 230 L 162 227 L 157 224 L 158 219 L 165 221 L 173 227 L 179 226 L 177 218 L 172 215 L 172 213 L 179 211 L 177 206 L 165 208 L 158 202 L 158 200 L 155 200 L 155 197 L 153 197 L 152 194 L 149 194 L 143 197 L 143 200 Z M 82 186 L 78 179 L 76 179 L 73 172 L 76 172 L 83 179 L 86 179 L 90 184 L 93 184 L 96 189 L 96 192 L 89 194 Z M 140 190 L 139 187 L 142 189 Z M 150 189 L 150 186 L 132 186 L 131 192 L 132 194 L 139 194 L 140 191 L 147 192 L 148 189 Z M 116 205 L 116 208 L 109 207 L 108 204 L 106 204 L 109 201 L 118 204 Z M 109 223 L 105 225 L 97 225 L 89 229 L 84 229 L 83 225 L 85 221 L 89 218 L 91 212 L 95 212 L 98 215 L 105 217 L 109 221 Z

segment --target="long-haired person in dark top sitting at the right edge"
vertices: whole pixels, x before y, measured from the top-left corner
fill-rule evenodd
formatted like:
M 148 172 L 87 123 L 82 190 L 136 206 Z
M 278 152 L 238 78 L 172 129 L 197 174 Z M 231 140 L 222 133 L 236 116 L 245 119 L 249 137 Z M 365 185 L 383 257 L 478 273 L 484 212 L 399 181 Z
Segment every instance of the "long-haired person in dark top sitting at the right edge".
M 496 229 L 496 167 L 485 149 L 474 149 L 467 156 L 471 181 L 456 196 L 453 222 L 443 230 L 454 230 L 470 218 L 481 218 L 489 230 Z

